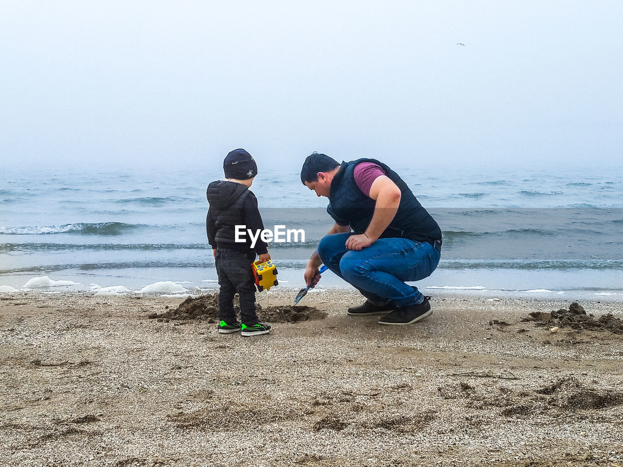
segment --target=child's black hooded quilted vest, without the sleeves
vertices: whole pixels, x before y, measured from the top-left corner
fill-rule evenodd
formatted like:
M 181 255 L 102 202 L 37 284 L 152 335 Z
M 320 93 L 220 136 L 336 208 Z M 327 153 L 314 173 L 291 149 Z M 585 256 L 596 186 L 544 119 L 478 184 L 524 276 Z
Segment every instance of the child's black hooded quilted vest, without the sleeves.
M 206 195 L 216 223 L 218 248 L 238 245 L 235 225 L 244 224 L 244 200 L 249 194 L 249 189 L 240 183 L 218 181 L 208 185 Z

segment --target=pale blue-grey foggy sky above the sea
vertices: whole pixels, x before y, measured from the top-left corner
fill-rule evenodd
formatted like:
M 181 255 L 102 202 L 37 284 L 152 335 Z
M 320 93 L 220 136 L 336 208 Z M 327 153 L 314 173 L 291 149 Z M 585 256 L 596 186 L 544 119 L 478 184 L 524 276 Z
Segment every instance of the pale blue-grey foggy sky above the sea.
M 619 164 L 622 18 L 621 0 L 0 0 L 0 166 L 238 147 Z

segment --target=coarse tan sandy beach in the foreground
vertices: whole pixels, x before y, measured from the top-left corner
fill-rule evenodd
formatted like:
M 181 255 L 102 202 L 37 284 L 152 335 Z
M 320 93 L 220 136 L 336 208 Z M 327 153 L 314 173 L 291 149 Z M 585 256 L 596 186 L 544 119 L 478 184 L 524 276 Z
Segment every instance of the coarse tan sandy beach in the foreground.
M 435 295 L 379 326 L 351 291 L 296 293 L 257 295 L 306 320 L 252 338 L 181 298 L 0 294 L 1 465 L 623 465 L 621 301 L 581 302 L 588 326 Z

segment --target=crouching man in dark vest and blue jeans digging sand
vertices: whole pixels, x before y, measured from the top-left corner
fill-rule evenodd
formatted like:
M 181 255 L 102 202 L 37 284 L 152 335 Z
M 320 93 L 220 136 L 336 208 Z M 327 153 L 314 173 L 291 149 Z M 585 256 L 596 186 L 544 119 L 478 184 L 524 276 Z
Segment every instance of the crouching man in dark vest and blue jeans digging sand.
M 325 154 L 305 159 L 301 181 L 329 199 L 335 225 L 305 270 L 315 286 L 322 263 L 368 300 L 350 315 L 384 314 L 379 324 L 411 324 L 432 314 L 429 297 L 406 281 L 439 264 L 441 229 L 401 177 L 376 159 L 338 164 Z

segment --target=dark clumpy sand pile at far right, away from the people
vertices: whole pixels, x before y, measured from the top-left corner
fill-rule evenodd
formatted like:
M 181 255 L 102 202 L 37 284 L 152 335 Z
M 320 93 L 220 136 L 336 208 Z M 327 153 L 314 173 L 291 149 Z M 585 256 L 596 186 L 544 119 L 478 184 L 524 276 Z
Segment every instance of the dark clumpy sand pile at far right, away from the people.
M 613 334 L 623 334 L 623 320 L 615 318 L 612 313 L 596 317 L 586 313 L 586 310 L 574 301 L 569 309 L 561 308 L 558 311 L 530 313 L 530 318 L 522 321 L 534 321 L 537 326 L 558 326 L 558 328 L 574 329 L 575 331 L 610 331 Z

